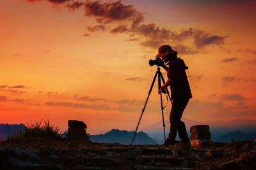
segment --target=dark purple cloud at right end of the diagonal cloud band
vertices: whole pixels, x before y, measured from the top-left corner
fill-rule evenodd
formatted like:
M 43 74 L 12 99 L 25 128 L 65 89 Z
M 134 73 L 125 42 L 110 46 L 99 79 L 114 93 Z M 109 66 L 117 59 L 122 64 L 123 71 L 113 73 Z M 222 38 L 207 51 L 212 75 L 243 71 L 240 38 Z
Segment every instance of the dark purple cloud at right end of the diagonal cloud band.
M 204 31 L 196 31 L 194 35 L 194 43 L 198 49 L 205 45 L 223 45 L 227 36 L 210 35 Z

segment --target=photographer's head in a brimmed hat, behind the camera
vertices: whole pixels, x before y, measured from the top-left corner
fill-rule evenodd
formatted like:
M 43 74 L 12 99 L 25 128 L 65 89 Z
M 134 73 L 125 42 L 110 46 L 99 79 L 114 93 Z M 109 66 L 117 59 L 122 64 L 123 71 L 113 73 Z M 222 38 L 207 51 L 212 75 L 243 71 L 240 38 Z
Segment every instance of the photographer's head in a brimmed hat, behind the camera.
M 168 62 L 172 57 L 177 58 L 177 51 L 173 50 L 170 45 L 161 45 L 158 48 L 156 58 L 162 58 L 164 62 Z

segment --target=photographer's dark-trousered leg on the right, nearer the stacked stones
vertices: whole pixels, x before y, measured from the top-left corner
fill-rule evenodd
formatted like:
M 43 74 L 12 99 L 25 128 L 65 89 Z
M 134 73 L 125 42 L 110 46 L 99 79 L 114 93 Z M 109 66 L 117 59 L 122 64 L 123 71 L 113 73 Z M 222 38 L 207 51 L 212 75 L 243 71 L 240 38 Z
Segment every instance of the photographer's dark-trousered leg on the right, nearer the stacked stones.
M 176 128 L 179 133 L 179 137 L 184 142 L 189 142 L 188 134 L 186 132 L 186 126 L 183 121 L 181 121 L 181 117 L 183 114 L 186 105 L 189 100 L 177 100 L 173 101 L 173 114 L 172 114 L 172 125 Z

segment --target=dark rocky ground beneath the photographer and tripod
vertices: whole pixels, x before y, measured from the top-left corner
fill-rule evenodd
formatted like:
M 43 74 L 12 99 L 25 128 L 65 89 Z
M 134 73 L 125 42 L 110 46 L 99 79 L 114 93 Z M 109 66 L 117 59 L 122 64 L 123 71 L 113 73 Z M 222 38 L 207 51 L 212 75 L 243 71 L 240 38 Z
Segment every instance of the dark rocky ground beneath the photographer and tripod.
M 83 139 L 0 142 L 0 169 L 256 169 L 253 141 L 175 146 L 92 143 Z

